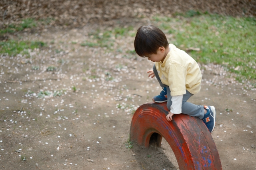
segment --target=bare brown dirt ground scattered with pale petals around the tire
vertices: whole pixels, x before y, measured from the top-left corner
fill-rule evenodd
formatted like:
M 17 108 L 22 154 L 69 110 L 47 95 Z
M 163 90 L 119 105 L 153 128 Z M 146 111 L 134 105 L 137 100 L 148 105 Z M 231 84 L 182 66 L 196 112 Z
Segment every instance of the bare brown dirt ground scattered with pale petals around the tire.
M 160 86 L 146 74 L 153 63 L 124 55 L 134 49 L 134 37 L 115 39 L 112 51 L 82 47 L 94 28 L 46 28 L 11 37 L 50 46 L 31 52 L 31 59 L 0 57 L 0 169 L 178 169 L 165 140 L 161 148 L 126 149 L 132 113 L 151 102 Z M 220 65 L 200 66 L 201 91 L 189 102 L 216 107 L 212 138 L 223 170 L 255 170 L 256 90 Z M 40 98 L 40 91 L 48 93 Z

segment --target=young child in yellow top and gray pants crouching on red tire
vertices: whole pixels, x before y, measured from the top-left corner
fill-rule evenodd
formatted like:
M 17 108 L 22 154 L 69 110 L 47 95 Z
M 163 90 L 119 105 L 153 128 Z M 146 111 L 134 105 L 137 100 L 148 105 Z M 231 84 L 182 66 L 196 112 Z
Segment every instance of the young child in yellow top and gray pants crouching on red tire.
M 154 96 L 154 102 L 167 101 L 170 109 L 166 119 L 172 115 L 184 113 L 203 119 L 212 133 L 215 127 L 216 109 L 214 106 L 201 106 L 187 102 L 201 88 L 202 74 L 196 61 L 186 52 L 169 44 L 164 33 L 153 25 L 141 26 L 137 30 L 134 48 L 140 57 L 155 62 L 148 77 L 156 76 L 162 92 Z

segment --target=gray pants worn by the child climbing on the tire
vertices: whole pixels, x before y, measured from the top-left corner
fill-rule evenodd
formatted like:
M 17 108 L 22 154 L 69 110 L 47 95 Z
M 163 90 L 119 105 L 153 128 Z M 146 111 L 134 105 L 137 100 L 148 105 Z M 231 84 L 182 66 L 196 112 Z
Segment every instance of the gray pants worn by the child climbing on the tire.
M 167 108 L 170 110 L 170 108 L 172 106 L 171 90 L 170 90 L 169 86 L 162 84 L 160 77 L 158 75 L 158 72 L 156 70 L 155 64 L 153 66 L 153 71 L 154 71 L 154 74 L 155 74 L 156 79 L 158 80 L 160 86 L 166 87 L 166 89 L 167 89 Z M 203 119 L 204 118 L 204 106 L 195 105 L 195 104 L 187 102 L 187 100 L 191 96 L 193 96 L 193 94 L 188 92 L 188 90 L 186 90 L 186 94 L 183 94 L 182 106 L 181 106 L 182 113 L 184 113 L 186 115 L 194 116 L 194 117 L 199 117 L 199 119 Z

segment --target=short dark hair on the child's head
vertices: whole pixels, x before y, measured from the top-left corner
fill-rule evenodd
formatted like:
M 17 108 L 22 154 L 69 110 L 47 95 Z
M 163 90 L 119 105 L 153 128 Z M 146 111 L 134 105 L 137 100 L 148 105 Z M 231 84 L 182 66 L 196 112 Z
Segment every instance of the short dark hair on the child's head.
M 153 25 L 140 26 L 134 39 L 134 49 L 140 57 L 156 54 L 159 47 L 168 45 L 163 31 Z

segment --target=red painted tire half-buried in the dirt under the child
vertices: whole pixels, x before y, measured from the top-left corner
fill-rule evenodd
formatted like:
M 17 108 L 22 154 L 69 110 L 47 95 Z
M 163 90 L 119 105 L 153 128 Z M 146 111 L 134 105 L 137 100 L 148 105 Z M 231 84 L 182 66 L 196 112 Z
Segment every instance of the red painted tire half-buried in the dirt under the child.
M 148 148 L 154 138 L 160 147 L 164 137 L 176 156 L 180 170 L 222 170 L 218 150 L 203 121 L 198 117 L 178 114 L 169 122 L 167 114 L 166 102 L 140 106 L 132 117 L 130 140 Z

